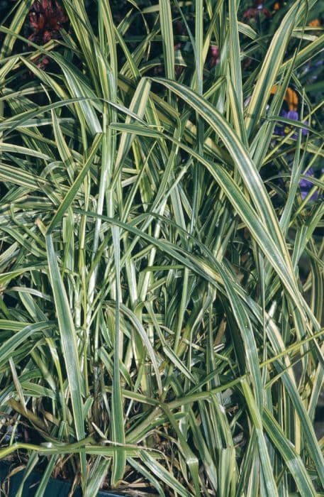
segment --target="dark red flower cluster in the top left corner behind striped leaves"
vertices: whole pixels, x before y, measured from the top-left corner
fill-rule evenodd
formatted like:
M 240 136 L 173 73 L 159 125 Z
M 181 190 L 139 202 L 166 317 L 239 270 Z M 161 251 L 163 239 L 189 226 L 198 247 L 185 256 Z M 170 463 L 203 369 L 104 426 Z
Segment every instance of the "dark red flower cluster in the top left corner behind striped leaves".
M 65 11 L 56 0 L 35 1 L 29 13 L 30 27 L 34 31 L 28 39 L 46 43 L 57 38 L 62 24 L 67 21 Z

